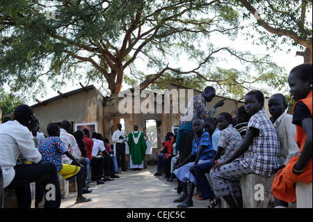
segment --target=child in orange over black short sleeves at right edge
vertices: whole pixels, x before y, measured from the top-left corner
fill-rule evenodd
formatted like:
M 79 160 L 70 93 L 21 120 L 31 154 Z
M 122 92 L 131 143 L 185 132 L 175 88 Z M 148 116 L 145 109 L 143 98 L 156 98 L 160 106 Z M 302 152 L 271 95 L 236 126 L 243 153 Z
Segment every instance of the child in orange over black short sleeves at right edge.
M 288 84 L 291 99 L 296 101 L 292 122 L 296 125 L 300 156 L 292 157 L 275 175 L 272 193 L 276 207 L 287 207 L 288 202 L 296 201 L 296 182 L 312 182 L 312 64 L 293 68 Z

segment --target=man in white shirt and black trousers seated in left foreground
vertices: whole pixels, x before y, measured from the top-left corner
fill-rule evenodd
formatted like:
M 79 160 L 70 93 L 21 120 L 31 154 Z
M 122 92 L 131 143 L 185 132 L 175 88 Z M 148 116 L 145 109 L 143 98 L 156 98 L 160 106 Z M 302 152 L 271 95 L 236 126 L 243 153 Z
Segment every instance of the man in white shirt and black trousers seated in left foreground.
M 3 188 L 15 188 L 19 207 L 30 208 L 29 183 L 37 182 L 39 186 L 36 187 L 50 192 L 53 185 L 55 198 L 45 200 L 45 207 L 58 208 L 61 205 L 61 191 L 56 166 L 52 162 L 42 162 L 41 154 L 35 148 L 31 131 L 36 126 L 36 120 L 33 109 L 23 104 L 15 108 L 13 121 L 0 125 L 0 166 L 3 173 Z M 21 153 L 32 164 L 17 165 L 17 158 Z

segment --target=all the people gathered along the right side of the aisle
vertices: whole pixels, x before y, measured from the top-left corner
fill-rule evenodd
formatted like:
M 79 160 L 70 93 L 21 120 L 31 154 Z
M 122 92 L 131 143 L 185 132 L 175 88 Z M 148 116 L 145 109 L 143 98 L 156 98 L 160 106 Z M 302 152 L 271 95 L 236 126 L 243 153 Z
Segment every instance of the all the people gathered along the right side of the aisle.
M 243 207 L 239 181 L 252 173 L 275 175 L 275 207 L 296 202 L 296 182 L 312 182 L 312 64 L 296 66 L 288 83 L 291 99 L 296 102 L 293 115 L 286 113 L 286 97 L 280 93 L 268 100 L 268 118 L 263 93 L 249 91 L 235 120 L 225 112 L 213 118 L 223 100 L 207 111 L 206 102 L 215 96 L 214 88 L 209 86 L 193 97 L 175 139 L 168 143 L 166 138 L 163 149 L 168 152 L 159 154 L 154 174 L 170 171 L 170 175 L 166 173 L 168 181 L 177 177 L 177 193 L 182 192 L 173 200 L 179 203 L 177 207 L 193 206 L 195 186 L 199 190 L 195 198 L 209 200 L 209 208 L 219 205 L 220 198 L 230 207 Z M 167 161 L 170 164 L 164 164 Z M 209 173 L 211 185 L 205 173 Z

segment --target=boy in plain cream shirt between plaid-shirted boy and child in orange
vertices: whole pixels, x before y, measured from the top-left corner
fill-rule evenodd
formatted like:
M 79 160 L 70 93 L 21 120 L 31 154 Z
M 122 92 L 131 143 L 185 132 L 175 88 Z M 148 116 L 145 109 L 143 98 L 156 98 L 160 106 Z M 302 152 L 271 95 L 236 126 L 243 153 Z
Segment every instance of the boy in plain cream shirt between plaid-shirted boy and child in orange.
M 280 140 L 280 161 L 282 168 L 288 164 L 291 157 L 295 157 L 299 151 L 294 140 L 296 126 L 292 124 L 292 116 L 287 114 L 286 97 L 280 93 L 272 95 L 268 100 L 268 111 L 271 113 L 270 120 L 273 122 L 278 139 Z

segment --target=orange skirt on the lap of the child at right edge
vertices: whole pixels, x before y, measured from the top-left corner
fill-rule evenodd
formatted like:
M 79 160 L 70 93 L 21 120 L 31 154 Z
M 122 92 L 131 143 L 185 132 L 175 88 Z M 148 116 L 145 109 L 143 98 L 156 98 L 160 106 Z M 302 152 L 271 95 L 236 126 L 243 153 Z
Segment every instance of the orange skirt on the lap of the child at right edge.
M 307 162 L 303 173 L 300 175 L 292 173 L 292 168 L 298 159 L 299 156 L 291 158 L 289 163 L 275 175 L 272 184 L 275 198 L 288 203 L 296 202 L 296 182 L 307 184 L 312 181 L 312 158 Z

